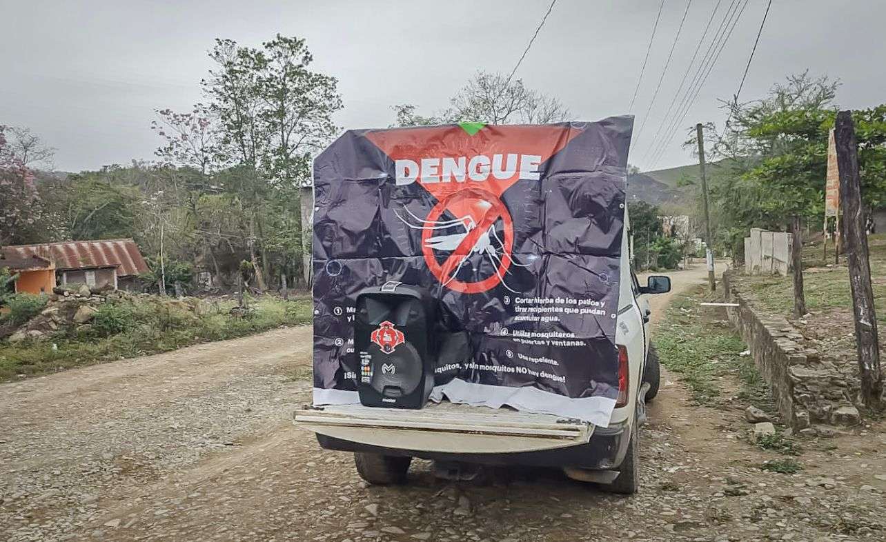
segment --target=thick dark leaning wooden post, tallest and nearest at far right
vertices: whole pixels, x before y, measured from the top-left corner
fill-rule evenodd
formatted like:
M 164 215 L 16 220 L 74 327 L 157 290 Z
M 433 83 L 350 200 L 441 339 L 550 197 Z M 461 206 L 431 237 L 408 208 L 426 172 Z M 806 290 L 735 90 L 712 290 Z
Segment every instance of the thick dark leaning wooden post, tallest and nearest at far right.
M 840 205 L 843 207 L 843 235 L 840 244 L 849 266 L 852 308 L 855 311 L 855 338 L 859 351 L 861 400 L 865 406 L 879 409 L 882 404 L 880 346 L 877 344 L 877 317 L 874 313 L 874 290 L 871 287 L 871 264 L 867 253 L 865 216 L 861 206 L 858 142 L 850 111 L 836 117 L 836 160 L 840 167 Z

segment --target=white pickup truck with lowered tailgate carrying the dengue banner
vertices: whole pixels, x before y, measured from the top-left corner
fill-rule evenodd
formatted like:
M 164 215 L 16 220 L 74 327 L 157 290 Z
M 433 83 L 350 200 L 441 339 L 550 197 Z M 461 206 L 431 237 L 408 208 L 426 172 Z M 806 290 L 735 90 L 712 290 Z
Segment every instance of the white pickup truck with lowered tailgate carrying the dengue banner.
M 563 468 L 567 476 L 605 484 L 611 492 L 636 492 L 637 427 L 645 419 L 646 401 L 657 394 L 659 379 L 645 298 L 670 290 L 671 281 L 653 275 L 646 285 L 638 283 L 627 238 L 622 240 L 616 324 L 618 402 L 607 426 L 445 400 L 418 410 L 305 406 L 295 413 L 295 422 L 314 431 L 323 448 L 354 452 L 357 470 L 370 484 L 405 482 L 409 463 L 417 457 L 455 471 L 478 464 Z

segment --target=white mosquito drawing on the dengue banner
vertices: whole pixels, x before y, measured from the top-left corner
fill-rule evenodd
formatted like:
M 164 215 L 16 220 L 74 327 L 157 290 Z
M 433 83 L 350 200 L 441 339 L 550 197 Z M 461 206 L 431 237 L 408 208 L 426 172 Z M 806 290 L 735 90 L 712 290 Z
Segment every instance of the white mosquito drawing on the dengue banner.
M 439 230 L 439 229 L 448 229 L 448 228 L 463 228 L 464 231 L 460 231 L 455 234 L 446 234 L 439 236 L 432 236 L 427 239 L 425 242 L 425 246 L 435 250 L 435 251 L 447 251 L 453 252 L 460 244 L 462 244 L 462 240 L 465 236 L 467 236 L 471 231 L 477 228 L 477 222 L 474 221 L 473 217 L 470 215 L 462 216 L 461 218 L 457 218 L 451 221 L 424 221 L 418 218 L 415 214 L 409 211 L 406 205 L 403 206 L 403 210 L 408 213 L 410 217 L 412 217 L 416 222 L 420 225 L 414 224 L 410 221 L 407 221 L 400 213 L 397 213 L 395 210 L 393 213 L 400 219 L 404 224 L 406 224 L 409 228 L 413 229 L 431 229 L 431 230 Z M 496 244 L 493 244 L 493 239 Z M 448 283 L 455 279 L 455 276 L 458 275 L 459 271 L 464 267 L 464 263 L 468 261 L 472 254 L 481 254 L 489 259 L 490 263 L 493 264 L 493 268 L 495 270 L 495 275 L 498 276 L 501 284 L 507 288 L 508 290 L 519 293 L 517 290 L 512 289 L 508 283 L 505 282 L 504 277 L 501 276 L 499 272 L 499 267 L 501 267 L 502 259 L 507 258 L 510 261 L 510 265 L 517 267 L 529 267 L 528 264 L 517 263 L 515 259 L 511 257 L 511 255 L 505 251 L 504 243 L 501 241 L 501 238 L 498 236 L 498 233 L 495 231 L 495 225 L 491 225 L 486 232 L 478 236 L 477 241 L 474 243 L 474 246 L 470 248 L 470 251 L 462 257 L 458 262 L 458 266 L 455 267 L 455 270 L 449 275 L 449 278 L 443 286 L 446 286 Z M 474 267 L 474 271 L 477 271 L 477 268 Z M 506 275 L 510 275 L 510 270 L 505 271 Z

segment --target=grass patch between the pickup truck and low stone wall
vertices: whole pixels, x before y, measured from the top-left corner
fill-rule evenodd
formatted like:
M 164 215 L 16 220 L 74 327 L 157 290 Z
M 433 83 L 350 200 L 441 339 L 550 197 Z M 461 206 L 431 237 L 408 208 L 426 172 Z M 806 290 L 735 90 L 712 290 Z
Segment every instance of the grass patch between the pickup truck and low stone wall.
M 699 286 L 675 296 L 654 335 L 662 363 L 680 374 L 698 404 L 719 396 L 717 377 L 733 369 L 744 350 L 741 337 L 718 323 L 715 309 L 698 305 L 704 291 Z

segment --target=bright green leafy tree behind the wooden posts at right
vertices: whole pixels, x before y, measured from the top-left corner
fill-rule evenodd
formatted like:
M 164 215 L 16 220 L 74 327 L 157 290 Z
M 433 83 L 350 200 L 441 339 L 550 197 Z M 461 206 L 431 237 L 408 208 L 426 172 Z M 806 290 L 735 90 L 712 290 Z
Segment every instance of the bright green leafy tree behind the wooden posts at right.
M 786 228 L 795 216 L 818 220 L 823 213 L 828 133 L 839 81 L 808 72 L 791 75 L 767 97 L 727 104 L 731 120 L 723 133 L 705 130 L 711 159 L 715 239 L 740 244 L 748 228 Z M 853 113 L 859 134 L 862 192 L 868 206 L 886 203 L 886 105 Z M 696 148 L 690 138 L 688 148 Z M 723 235 L 722 230 L 727 230 Z M 735 232 L 739 232 L 737 239 Z M 742 247 L 734 248 L 741 250 Z

